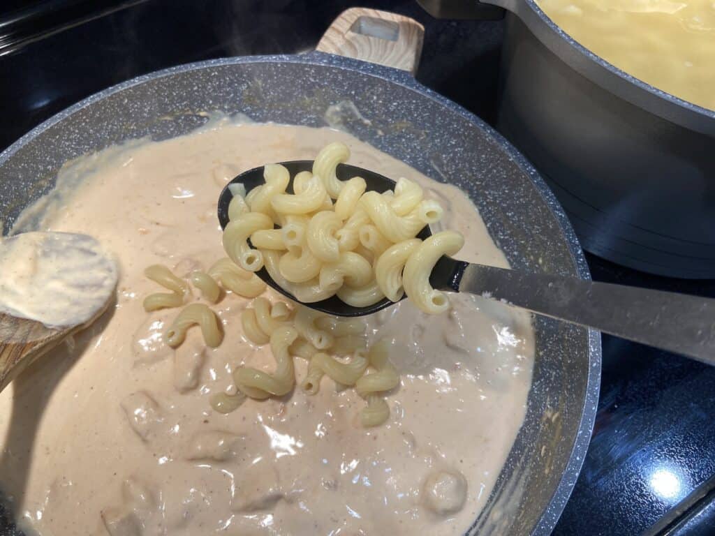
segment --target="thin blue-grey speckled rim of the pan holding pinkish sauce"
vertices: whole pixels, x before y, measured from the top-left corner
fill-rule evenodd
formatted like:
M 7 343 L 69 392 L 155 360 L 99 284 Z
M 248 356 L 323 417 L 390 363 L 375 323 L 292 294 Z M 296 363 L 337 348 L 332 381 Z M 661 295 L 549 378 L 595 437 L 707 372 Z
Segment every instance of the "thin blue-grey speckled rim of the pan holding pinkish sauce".
M 573 259 L 573 264 L 576 269 L 576 274 L 581 279 L 591 279 L 591 273 L 588 269 L 588 264 L 586 264 L 586 257 L 584 257 L 581 245 L 578 242 L 576 233 L 571 227 L 571 222 L 569 222 L 566 217 L 566 213 L 563 211 L 561 204 L 554 196 L 551 189 L 547 186 L 546 182 L 543 180 L 540 174 L 536 171 L 533 165 L 528 162 L 528 160 L 523 157 L 523 155 L 518 152 L 518 150 L 509 143 L 506 138 L 499 134 L 495 129 L 486 124 L 482 119 L 472 114 L 467 109 L 463 108 L 459 104 L 456 104 L 445 96 L 442 96 L 435 91 L 428 89 L 427 87 L 420 84 L 415 78 L 405 71 L 400 71 L 399 69 L 393 69 L 391 67 L 381 66 L 377 64 L 370 64 L 365 61 L 359 61 L 355 59 L 345 58 L 342 56 L 335 56 L 332 54 L 325 54 L 322 52 L 311 51 L 304 54 L 282 54 L 282 55 L 266 55 L 266 56 L 235 56 L 225 59 L 210 59 L 204 61 L 197 61 L 190 64 L 182 64 L 179 66 L 169 67 L 168 69 L 162 69 L 160 71 L 154 71 L 149 74 L 144 74 L 142 76 L 137 76 L 134 79 L 124 81 L 120 84 L 116 84 L 107 89 L 97 92 L 92 96 L 79 101 L 77 104 L 69 106 L 68 108 L 60 111 L 59 113 L 51 116 L 46 121 L 42 122 L 38 126 L 34 127 L 31 131 L 25 134 L 23 137 L 18 139 L 14 144 L 11 144 L 4 152 L 0 153 L 0 167 L 10 159 L 21 147 L 31 142 L 33 139 L 38 137 L 44 131 L 49 129 L 51 126 L 58 124 L 67 117 L 76 113 L 79 110 L 84 109 L 90 104 L 97 103 L 106 99 L 108 96 L 128 89 L 132 86 L 138 84 L 144 84 L 147 81 L 152 81 L 154 79 L 159 79 L 164 76 L 172 76 L 173 74 L 179 74 L 187 71 L 194 71 L 198 69 L 212 69 L 214 67 L 229 66 L 229 65 L 240 65 L 240 64 L 260 64 L 260 63 L 292 63 L 292 64 L 307 64 L 307 65 L 320 65 L 329 66 L 337 69 L 343 69 L 345 71 L 356 71 L 364 76 L 375 76 L 380 79 L 385 79 L 386 81 L 393 82 L 400 86 L 404 86 L 407 89 L 411 89 L 423 96 L 427 97 L 435 104 L 439 106 L 444 106 L 450 109 L 454 113 L 462 116 L 464 119 L 470 123 L 482 129 L 494 140 L 499 147 L 508 154 L 508 156 L 515 162 L 522 171 L 528 175 L 531 182 L 536 186 L 537 191 L 541 194 L 542 199 L 548 207 L 551 209 L 552 214 L 556 217 L 556 220 L 561 227 L 563 232 L 563 237 L 566 240 L 568 251 L 571 253 L 571 258 Z M 532 536 L 548 536 L 551 534 L 553 527 L 556 525 L 558 518 L 563 512 L 563 508 L 566 506 L 568 498 L 571 496 L 571 490 L 576 484 L 579 472 L 581 471 L 581 466 L 586 457 L 586 450 L 588 450 L 588 445 L 591 441 L 591 432 L 593 431 L 593 424 L 596 418 L 596 410 L 598 407 L 598 393 L 601 384 L 601 334 L 594 329 L 588 329 L 587 331 L 587 342 L 588 342 L 588 371 L 587 371 L 587 383 L 586 383 L 586 394 L 583 399 L 583 406 L 581 409 L 581 420 L 578 423 L 578 431 L 576 432 L 576 437 L 573 440 L 573 447 L 571 447 L 571 454 L 569 455 L 568 462 L 566 462 L 566 467 L 561 475 L 561 480 L 556 486 L 551 499 L 548 502 L 546 510 L 541 515 L 541 519 L 538 521 L 536 527 L 532 531 Z

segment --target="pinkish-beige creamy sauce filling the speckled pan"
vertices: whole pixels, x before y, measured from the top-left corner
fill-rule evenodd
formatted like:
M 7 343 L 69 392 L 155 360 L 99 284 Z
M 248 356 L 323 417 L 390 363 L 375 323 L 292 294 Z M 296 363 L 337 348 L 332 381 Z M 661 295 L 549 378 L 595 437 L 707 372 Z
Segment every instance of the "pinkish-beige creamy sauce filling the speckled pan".
M 91 231 L 119 259 L 119 296 L 74 347 L 0 394 L 1 485 L 25 530 L 452 535 L 475 520 L 526 412 L 527 314 L 453 296 L 442 317 L 401 302 L 370 318 L 373 340 L 394 340 L 402 382 L 388 394 L 390 420 L 364 429 L 365 402 L 327 377 L 313 397 L 298 388 L 229 415 L 211 409 L 212 393 L 235 392 L 235 367 L 273 367 L 270 350 L 242 336 L 249 300 L 229 295 L 215 306 L 225 324 L 217 349 L 197 329 L 170 349 L 160 333 L 177 309 L 142 309 L 157 290 L 142 275 L 149 264 L 186 276 L 225 256 L 215 211 L 228 180 L 265 162 L 309 159 L 336 139 L 352 150 L 350 163 L 428 187 L 446 209 L 444 227 L 467 238 L 461 258 L 508 266 L 458 189 L 338 131 L 225 125 L 112 149 L 89 157 L 92 166 L 74 162 L 51 199 L 59 210 L 39 225 Z M 77 169 L 84 181 L 69 194 L 61 184 L 76 184 Z M 296 368 L 300 382 L 305 362 Z

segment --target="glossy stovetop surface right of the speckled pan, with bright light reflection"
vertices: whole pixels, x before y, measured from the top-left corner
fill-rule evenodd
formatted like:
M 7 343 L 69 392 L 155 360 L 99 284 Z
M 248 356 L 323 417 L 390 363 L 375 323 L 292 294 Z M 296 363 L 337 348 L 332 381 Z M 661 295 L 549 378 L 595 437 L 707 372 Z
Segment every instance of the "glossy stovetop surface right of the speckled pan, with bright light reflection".
M 713 281 L 587 259 L 599 281 L 715 297 Z M 554 534 L 715 534 L 714 416 L 713 367 L 603 335 L 596 425 Z

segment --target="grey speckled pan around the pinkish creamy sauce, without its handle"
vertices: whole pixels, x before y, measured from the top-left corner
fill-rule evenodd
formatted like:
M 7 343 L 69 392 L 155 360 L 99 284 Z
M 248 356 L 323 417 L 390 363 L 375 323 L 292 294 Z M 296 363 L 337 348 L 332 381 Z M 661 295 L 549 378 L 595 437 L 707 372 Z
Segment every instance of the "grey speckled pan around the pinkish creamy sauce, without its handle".
M 589 277 L 561 207 L 501 136 L 403 71 L 319 52 L 179 66 L 72 106 L 0 155 L 0 219 L 9 227 L 21 209 L 51 189 L 67 159 L 128 138 L 186 134 L 207 121 L 200 112 L 324 126 L 328 106 L 344 101 L 360 111 L 351 114 L 342 105 L 345 129 L 465 189 L 512 267 Z M 470 535 L 550 533 L 586 454 L 601 339 L 549 319 L 535 323 L 538 354 L 526 422 Z M 0 536 L 16 534 L 0 519 Z

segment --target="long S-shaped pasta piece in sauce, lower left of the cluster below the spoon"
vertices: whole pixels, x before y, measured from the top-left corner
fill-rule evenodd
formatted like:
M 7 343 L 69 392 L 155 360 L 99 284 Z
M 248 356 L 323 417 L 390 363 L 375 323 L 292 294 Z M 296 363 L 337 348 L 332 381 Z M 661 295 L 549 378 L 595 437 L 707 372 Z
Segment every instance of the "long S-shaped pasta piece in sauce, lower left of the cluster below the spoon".
M 276 362 L 275 372 L 241 367 L 234 374 L 236 387 L 246 396 L 265 399 L 287 394 L 295 384 L 295 369 L 288 348 L 297 339 L 298 332 L 290 326 L 280 326 L 270 336 L 270 346 Z

